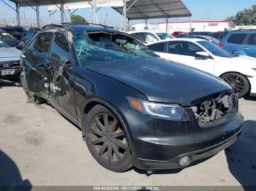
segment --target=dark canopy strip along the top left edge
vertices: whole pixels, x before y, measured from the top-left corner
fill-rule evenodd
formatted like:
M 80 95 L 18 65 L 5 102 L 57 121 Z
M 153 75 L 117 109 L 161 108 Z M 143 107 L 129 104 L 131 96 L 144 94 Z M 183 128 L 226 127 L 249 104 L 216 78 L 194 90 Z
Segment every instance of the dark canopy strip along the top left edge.
M 43 5 L 53 5 L 53 4 L 59 4 L 60 0 L 10 0 L 14 2 L 15 4 L 19 4 L 19 7 L 30 7 L 34 6 L 35 4 L 39 4 L 39 6 Z M 86 0 L 64 0 L 64 4 L 69 3 L 78 3 L 78 2 L 84 2 Z M 89 0 L 87 0 L 89 1 Z

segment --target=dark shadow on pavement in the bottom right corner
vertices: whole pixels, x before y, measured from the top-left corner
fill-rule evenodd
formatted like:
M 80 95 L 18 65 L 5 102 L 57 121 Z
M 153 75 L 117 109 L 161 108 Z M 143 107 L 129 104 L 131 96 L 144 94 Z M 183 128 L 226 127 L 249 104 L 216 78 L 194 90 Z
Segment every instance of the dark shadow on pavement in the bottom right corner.
M 241 136 L 235 144 L 225 150 L 225 154 L 230 172 L 244 187 L 244 190 L 255 189 L 256 121 L 248 120 L 244 123 Z

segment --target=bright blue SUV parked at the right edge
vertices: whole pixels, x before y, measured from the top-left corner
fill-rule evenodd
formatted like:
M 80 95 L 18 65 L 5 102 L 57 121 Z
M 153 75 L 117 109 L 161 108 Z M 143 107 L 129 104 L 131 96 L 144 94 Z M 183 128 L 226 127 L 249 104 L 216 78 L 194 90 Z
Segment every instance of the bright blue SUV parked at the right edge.
M 219 47 L 236 55 L 256 57 L 256 30 L 230 31 L 224 36 Z

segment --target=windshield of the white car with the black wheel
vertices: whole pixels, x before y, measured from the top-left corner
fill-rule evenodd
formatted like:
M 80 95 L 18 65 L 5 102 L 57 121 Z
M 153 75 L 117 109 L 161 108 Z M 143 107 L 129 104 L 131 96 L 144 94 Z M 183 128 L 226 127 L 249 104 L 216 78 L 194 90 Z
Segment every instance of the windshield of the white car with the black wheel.
M 198 42 L 203 47 L 205 47 L 209 52 L 211 52 L 213 55 L 217 55 L 219 57 L 225 57 L 225 58 L 233 58 L 235 55 L 231 54 L 230 52 L 227 52 L 226 50 L 218 47 L 216 44 L 213 44 L 208 41 L 200 41 Z

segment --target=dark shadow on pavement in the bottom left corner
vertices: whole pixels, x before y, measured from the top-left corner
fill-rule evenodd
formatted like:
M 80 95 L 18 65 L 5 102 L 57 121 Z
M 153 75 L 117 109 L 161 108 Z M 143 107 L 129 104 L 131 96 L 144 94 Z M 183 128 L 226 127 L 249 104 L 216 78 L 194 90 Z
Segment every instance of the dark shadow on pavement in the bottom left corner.
M 23 180 L 18 166 L 0 149 L 0 190 L 31 190 L 28 179 Z

